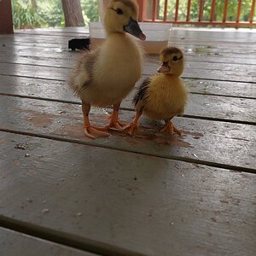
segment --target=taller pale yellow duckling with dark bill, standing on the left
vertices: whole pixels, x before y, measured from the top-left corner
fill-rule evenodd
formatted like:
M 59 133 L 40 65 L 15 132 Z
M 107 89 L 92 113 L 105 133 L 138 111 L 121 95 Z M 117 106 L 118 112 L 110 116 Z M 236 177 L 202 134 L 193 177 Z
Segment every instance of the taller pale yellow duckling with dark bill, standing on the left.
M 105 42 L 101 48 L 82 54 L 70 75 L 69 85 L 82 100 L 86 137 L 109 136 L 109 128 L 122 131 L 125 125 L 119 122 L 119 106 L 143 72 L 143 49 L 135 38 L 145 40 L 146 36 L 137 17 L 136 1 L 110 0 L 103 20 Z M 90 106 L 113 106 L 109 124 L 90 125 Z

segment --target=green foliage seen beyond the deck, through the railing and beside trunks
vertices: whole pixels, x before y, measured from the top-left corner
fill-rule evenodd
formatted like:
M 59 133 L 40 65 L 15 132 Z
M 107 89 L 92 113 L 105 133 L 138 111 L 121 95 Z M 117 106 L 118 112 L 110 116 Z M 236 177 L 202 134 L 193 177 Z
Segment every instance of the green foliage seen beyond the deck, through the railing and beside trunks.
M 99 20 L 98 0 L 80 0 L 84 15 L 85 26 L 90 21 Z M 36 7 L 32 7 L 32 0 L 12 0 L 13 19 L 15 28 L 32 28 L 42 26 L 65 26 L 61 0 L 34 0 Z M 149 0 L 148 0 L 149 2 Z M 152 0 L 150 1 L 152 2 Z M 165 0 L 159 0 L 159 19 L 164 17 Z M 236 20 L 238 0 L 229 0 L 227 20 Z M 168 1 L 167 20 L 174 20 L 176 0 Z M 247 21 L 250 16 L 252 0 L 243 0 L 241 6 L 240 20 Z M 186 20 L 188 0 L 179 1 L 178 20 Z M 197 20 L 200 0 L 191 1 L 190 20 Z M 212 9 L 212 0 L 205 0 L 203 20 L 209 20 Z M 224 1 L 216 1 L 215 20 L 222 20 L 224 12 Z M 152 9 L 148 8 L 148 14 L 152 14 Z

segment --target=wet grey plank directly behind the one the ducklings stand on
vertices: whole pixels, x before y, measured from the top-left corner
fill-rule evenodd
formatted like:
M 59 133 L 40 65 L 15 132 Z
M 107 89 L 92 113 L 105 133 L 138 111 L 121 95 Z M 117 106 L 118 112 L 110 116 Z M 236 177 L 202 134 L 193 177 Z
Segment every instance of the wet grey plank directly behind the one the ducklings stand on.
M 9 81 L 9 77 L 3 78 L 5 79 L 1 79 L 1 84 L 3 85 L 1 85 L 0 89 L 0 94 L 3 95 L 38 97 L 45 100 L 51 99 L 59 102 L 80 103 L 80 100 L 73 96 L 72 91 L 68 89 L 67 84 L 63 84 L 61 81 L 55 81 L 55 83 L 53 83 L 51 80 L 34 81 L 30 79 L 30 82 L 20 84 L 19 78 L 16 78 L 15 84 L 19 83 L 16 87 L 15 84 L 9 84 L 9 82 L 12 81 Z M 194 83 L 192 82 L 189 86 L 193 88 Z M 130 95 L 122 102 L 121 108 L 134 109 L 132 98 L 135 93 L 136 89 L 131 91 Z M 3 96 L 1 98 L 3 98 Z M 188 106 L 185 108 L 185 116 L 256 124 L 255 109 L 256 100 L 252 98 L 191 94 L 189 96 Z

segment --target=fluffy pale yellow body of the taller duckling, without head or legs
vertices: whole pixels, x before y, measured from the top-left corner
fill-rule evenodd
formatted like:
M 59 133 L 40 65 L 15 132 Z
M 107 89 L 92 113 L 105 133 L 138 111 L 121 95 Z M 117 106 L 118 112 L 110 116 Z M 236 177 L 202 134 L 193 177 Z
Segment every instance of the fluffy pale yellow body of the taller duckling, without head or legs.
M 129 94 L 143 70 L 143 51 L 125 33 L 110 34 L 100 49 L 84 53 L 71 75 L 83 102 L 109 107 Z

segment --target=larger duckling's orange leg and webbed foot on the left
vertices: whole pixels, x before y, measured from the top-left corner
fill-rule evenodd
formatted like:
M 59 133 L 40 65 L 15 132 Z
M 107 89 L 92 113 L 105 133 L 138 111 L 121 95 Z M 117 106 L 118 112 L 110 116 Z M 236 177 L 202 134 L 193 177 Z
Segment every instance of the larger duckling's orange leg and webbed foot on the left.
M 98 131 L 95 127 L 90 125 L 90 121 L 89 121 L 90 104 L 82 102 L 82 110 L 84 114 L 84 135 L 86 137 L 95 139 L 96 137 L 99 137 L 99 136 L 107 137 L 110 135 L 108 132 Z M 96 137 L 91 133 L 94 133 Z

